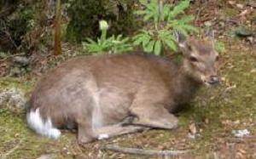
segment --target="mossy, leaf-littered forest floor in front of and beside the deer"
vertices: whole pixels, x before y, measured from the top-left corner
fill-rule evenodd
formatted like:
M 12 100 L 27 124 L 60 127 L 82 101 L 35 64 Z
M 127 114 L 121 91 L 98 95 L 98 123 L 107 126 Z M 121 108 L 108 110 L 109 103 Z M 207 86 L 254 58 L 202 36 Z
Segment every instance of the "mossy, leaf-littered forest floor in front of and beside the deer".
M 227 8 L 212 16 L 236 14 L 236 7 Z M 208 6 L 199 10 L 197 8 L 197 16 L 200 16 L 199 12 L 206 15 L 203 12 L 207 12 Z M 253 14 L 255 16 L 255 11 Z M 102 145 L 145 150 L 191 150 L 174 158 L 256 158 L 256 46 L 246 38 L 230 37 L 230 26 L 224 24 L 221 27 L 222 23 L 218 26 L 217 31 L 222 32 L 218 39 L 224 42 L 226 49 L 220 54 L 221 84 L 201 89 L 195 100 L 177 114 L 177 129 L 127 134 L 82 147 L 78 145 L 75 133 L 62 133 L 59 140 L 38 136 L 27 127 L 24 111 L 1 105 L 0 158 L 168 158 L 100 150 Z M 256 31 L 255 21 L 250 27 Z M 34 83 L 32 77 L 0 78 L 1 89 L 20 88 L 27 93 L 26 96 Z M 234 132 L 237 130 L 247 130 L 248 134 L 236 137 Z

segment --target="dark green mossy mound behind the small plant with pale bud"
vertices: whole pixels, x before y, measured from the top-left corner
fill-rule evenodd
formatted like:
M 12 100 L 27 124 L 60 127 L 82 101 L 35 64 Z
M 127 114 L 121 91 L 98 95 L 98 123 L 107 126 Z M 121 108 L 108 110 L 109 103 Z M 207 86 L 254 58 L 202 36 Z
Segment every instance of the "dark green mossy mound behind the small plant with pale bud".
M 134 0 L 74 1 L 67 10 L 71 19 L 67 26 L 67 40 L 82 42 L 86 37 L 98 37 L 99 20 L 108 21 L 109 35 L 128 34 L 135 28 L 135 18 L 132 13 L 134 2 Z

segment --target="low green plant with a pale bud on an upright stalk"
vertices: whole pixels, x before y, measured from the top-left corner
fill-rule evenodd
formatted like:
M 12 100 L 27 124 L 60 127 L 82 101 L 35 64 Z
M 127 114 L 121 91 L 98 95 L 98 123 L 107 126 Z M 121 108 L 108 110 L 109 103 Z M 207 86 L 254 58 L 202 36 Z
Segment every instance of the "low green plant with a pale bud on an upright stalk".
M 100 31 L 102 31 L 102 35 L 96 41 L 91 38 L 86 38 L 88 42 L 82 43 L 84 50 L 92 54 L 119 54 L 132 50 L 132 45 L 128 43 L 129 37 L 123 37 L 122 35 L 116 37 L 113 35 L 107 38 L 107 21 L 100 21 Z

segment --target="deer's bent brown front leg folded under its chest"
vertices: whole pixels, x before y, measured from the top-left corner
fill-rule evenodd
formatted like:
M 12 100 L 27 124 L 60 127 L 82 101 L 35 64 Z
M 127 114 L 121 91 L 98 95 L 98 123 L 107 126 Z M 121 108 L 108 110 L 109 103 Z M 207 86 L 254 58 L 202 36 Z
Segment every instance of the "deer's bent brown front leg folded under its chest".
M 132 124 L 150 128 L 177 128 L 177 117 L 162 105 L 135 105 L 131 107 L 131 114 L 137 116 Z

